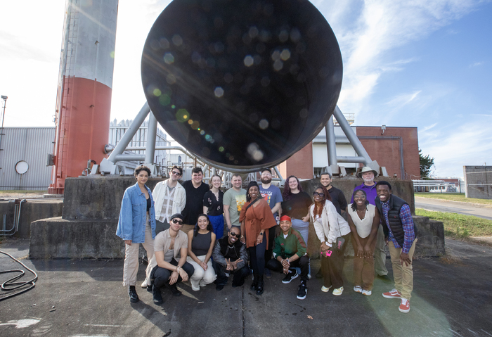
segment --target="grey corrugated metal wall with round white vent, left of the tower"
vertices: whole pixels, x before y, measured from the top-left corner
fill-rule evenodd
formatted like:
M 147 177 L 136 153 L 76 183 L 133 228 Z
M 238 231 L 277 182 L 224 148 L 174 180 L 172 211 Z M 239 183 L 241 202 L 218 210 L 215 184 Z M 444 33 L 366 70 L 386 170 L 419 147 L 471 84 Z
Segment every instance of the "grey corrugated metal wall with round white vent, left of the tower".
M 51 182 L 51 166 L 46 166 L 47 153 L 53 152 L 55 127 L 5 127 L 0 149 L 1 190 L 47 190 Z M 25 160 L 25 174 L 15 172 L 15 164 Z

